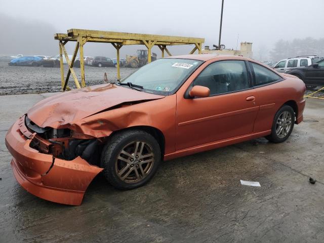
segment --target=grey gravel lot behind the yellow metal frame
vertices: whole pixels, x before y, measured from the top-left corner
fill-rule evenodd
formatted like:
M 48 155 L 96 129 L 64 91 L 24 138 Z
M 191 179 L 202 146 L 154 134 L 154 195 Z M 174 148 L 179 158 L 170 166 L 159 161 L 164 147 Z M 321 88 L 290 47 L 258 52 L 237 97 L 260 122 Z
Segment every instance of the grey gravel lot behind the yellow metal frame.
M 123 78 L 136 70 L 120 68 L 120 77 Z M 80 68 L 74 68 L 74 71 L 80 82 Z M 116 80 L 117 68 L 115 67 L 86 66 L 86 84 L 88 86 L 102 84 L 105 72 L 109 81 Z M 64 65 L 64 73 L 66 75 L 67 65 Z M 72 75 L 68 84 L 71 88 L 75 87 Z M 8 66 L 8 62 L 0 62 L 0 95 L 59 92 L 60 89 L 60 68 L 15 67 Z

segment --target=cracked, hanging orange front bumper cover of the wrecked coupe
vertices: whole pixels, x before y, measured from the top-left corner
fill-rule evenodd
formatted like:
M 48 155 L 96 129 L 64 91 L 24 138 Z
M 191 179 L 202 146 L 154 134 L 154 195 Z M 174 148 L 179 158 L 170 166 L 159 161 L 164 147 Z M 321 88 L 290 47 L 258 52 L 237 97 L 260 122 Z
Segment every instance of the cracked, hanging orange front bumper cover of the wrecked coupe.
M 80 205 L 93 178 L 103 169 L 76 157 L 73 160 L 40 153 L 29 146 L 33 136 L 20 117 L 6 135 L 13 155 L 11 166 L 19 184 L 31 194 L 55 203 Z

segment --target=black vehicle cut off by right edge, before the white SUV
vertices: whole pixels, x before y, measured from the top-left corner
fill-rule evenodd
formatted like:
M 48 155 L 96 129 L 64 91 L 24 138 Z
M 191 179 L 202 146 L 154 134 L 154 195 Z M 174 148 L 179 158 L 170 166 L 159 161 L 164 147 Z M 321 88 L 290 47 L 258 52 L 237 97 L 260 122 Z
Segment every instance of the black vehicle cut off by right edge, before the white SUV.
M 306 68 L 294 68 L 288 70 L 287 73 L 302 79 L 307 88 L 313 89 L 317 86 L 324 86 L 324 59 L 313 63 Z

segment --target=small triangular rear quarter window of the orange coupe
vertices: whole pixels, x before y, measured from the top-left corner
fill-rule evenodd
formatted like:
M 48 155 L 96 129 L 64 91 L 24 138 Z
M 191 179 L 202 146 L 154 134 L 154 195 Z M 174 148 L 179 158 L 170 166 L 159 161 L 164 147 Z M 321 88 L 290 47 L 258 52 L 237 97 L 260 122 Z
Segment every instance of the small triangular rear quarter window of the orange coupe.
M 255 86 L 269 84 L 281 79 L 281 77 L 278 74 L 274 73 L 268 68 L 253 62 L 250 63 L 252 69 L 254 70 Z

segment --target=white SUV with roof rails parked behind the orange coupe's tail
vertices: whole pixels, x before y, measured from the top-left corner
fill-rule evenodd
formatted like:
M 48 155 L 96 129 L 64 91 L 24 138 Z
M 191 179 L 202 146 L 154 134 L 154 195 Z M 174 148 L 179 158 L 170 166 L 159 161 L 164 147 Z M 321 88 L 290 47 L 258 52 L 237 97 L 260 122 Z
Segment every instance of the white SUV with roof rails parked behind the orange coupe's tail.
M 319 60 L 316 55 L 291 57 L 278 61 L 273 68 L 278 72 L 286 72 L 296 67 L 305 68 Z

